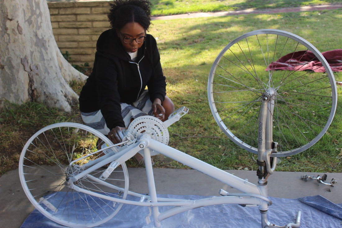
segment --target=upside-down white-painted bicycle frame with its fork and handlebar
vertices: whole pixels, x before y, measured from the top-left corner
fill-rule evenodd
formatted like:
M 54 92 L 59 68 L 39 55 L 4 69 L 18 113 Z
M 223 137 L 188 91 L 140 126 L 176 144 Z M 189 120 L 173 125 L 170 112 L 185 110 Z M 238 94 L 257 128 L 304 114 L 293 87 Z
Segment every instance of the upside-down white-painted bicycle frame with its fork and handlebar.
M 76 191 L 83 192 L 89 195 L 93 195 L 98 198 L 124 203 L 124 204 L 131 204 L 137 206 L 148 206 L 152 207 L 152 214 L 154 220 L 154 226 L 160 227 L 161 221 L 173 216 L 175 214 L 179 214 L 184 211 L 188 211 L 194 208 L 202 207 L 202 206 L 209 206 L 209 205 L 217 205 L 217 204 L 240 204 L 240 205 L 259 205 L 259 210 L 261 213 L 261 227 L 262 228 L 270 228 L 276 227 L 280 228 L 281 226 L 277 226 L 275 224 L 269 223 L 267 219 L 267 210 L 268 206 L 272 204 L 271 200 L 267 199 L 267 178 L 270 174 L 274 172 L 275 164 L 276 164 L 276 157 L 271 158 L 271 154 L 276 152 L 276 146 L 272 148 L 272 116 L 273 112 L 273 99 L 272 94 L 264 94 L 262 98 L 261 109 L 259 113 L 259 147 L 258 147 L 258 176 L 259 181 L 258 185 L 254 185 L 253 183 L 248 182 L 247 180 L 243 180 L 239 177 L 236 177 L 230 173 L 227 173 L 219 168 L 216 168 L 212 165 L 209 165 L 203 161 L 200 161 L 190 155 L 187 155 L 179 150 L 169 147 L 161 142 L 158 142 L 154 139 L 151 139 L 148 134 L 143 134 L 138 140 L 133 142 L 128 137 L 127 142 L 129 145 L 119 151 L 118 153 L 114 154 L 114 152 L 106 154 L 88 164 L 83 165 L 85 169 L 83 172 L 78 173 L 74 177 L 71 177 L 67 180 L 65 185 L 69 188 L 72 188 Z M 174 118 L 173 121 L 175 122 L 180 119 L 181 115 L 176 112 L 171 118 Z M 111 146 L 113 147 L 113 146 Z M 106 150 L 110 147 L 104 148 L 102 150 Z M 102 183 L 109 188 L 114 190 L 124 190 L 114 185 L 110 185 L 107 182 L 101 180 L 101 178 L 92 177 L 90 173 L 94 170 L 102 167 L 105 164 L 111 163 L 110 166 L 107 168 L 107 176 L 108 177 L 112 170 L 114 170 L 120 164 L 126 162 L 128 159 L 133 157 L 137 152 L 143 150 L 143 154 L 145 157 L 145 167 L 146 167 L 146 174 L 147 174 L 147 181 L 148 181 L 148 188 L 149 188 L 149 195 L 143 195 L 135 192 L 128 191 L 128 194 L 140 198 L 139 201 L 132 201 L 132 200 L 124 200 L 124 199 L 117 199 L 112 198 L 103 194 L 95 193 L 89 190 L 81 189 L 74 185 L 74 182 L 78 179 L 81 179 L 84 176 L 91 178 L 93 181 L 98 183 Z M 219 190 L 219 197 L 210 197 L 206 199 L 200 200 L 180 200 L 180 199 L 170 199 L 170 198 L 158 198 L 156 193 L 154 175 L 153 175 L 153 168 L 151 162 L 151 151 L 157 151 L 171 159 L 178 161 L 190 168 L 198 170 L 199 172 L 206 174 L 216 180 L 221 181 L 222 183 L 231 186 L 243 193 L 228 193 L 223 189 Z M 270 160 L 273 159 L 271 164 Z M 114 161 L 114 162 L 113 162 Z M 128 188 L 128 185 L 125 188 Z M 159 212 L 159 206 L 173 206 L 172 208 Z M 300 217 L 301 212 L 298 212 L 297 219 L 295 223 L 289 223 L 286 226 L 282 227 L 292 227 L 297 228 L 300 226 Z M 148 219 L 147 219 L 148 220 Z

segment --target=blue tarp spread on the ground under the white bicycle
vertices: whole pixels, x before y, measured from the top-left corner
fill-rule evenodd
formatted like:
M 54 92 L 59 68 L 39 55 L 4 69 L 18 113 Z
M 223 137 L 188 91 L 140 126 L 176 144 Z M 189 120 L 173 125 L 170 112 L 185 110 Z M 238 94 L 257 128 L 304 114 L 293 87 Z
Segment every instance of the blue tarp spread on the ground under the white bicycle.
M 163 198 L 196 200 L 207 198 L 199 195 L 158 195 Z M 284 226 L 294 222 L 298 211 L 302 211 L 301 228 L 341 228 L 342 207 L 316 195 L 298 199 L 269 197 L 268 219 L 271 223 Z M 159 207 L 163 211 L 168 207 Z M 146 225 L 147 207 L 123 205 L 116 216 L 99 227 L 104 228 L 153 228 Z M 261 217 L 258 207 L 242 207 L 236 204 L 214 205 L 186 211 L 161 221 L 162 228 L 260 228 Z M 34 210 L 21 228 L 64 227 Z

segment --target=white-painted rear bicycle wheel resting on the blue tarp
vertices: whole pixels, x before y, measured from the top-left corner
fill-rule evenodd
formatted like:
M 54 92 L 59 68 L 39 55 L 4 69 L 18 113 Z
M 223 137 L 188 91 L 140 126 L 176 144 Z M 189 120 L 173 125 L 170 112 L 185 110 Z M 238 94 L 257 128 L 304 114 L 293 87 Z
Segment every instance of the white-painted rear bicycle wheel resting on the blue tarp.
M 67 178 L 97 159 L 97 140 L 113 145 L 100 132 L 82 124 L 58 123 L 39 130 L 25 144 L 19 160 L 19 177 L 32 204 L 46 217 L 69 227 L 93 227 L 108 221 L 122 204 L 80 193 L 65 185 Z M 107 149 L 109 150 L 109 149 Z M 86 155 L 93 153 L 91 156 Z M 101 156 L 101 155 L 100 155 Z M 72 161 L 76 162 L 70 164 Z M 128 172 L 123 163 L 105 180 L 99 168 L 75 186 L 108 197 L 126 199 Z

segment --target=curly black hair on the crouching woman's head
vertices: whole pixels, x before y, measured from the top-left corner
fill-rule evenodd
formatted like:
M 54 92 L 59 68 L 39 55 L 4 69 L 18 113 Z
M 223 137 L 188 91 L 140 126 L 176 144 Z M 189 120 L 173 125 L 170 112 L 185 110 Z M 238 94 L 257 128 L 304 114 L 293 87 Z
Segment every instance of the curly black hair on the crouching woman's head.
M 139 23 L 145 30 L 151 25 L 151 3 L 148 0 L 115 0 L 110 3 L 110 27 L 121 29 L 129 22 Z

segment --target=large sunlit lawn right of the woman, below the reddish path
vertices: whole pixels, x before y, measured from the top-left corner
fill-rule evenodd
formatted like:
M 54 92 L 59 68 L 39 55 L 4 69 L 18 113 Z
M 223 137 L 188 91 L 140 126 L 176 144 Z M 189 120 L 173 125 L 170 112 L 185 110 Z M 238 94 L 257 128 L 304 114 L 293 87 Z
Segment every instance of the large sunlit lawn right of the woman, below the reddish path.
M 154 21 L 150 33 L 158 37 L 161 62 L 168 80 L 168 96 L 176 106 L 189 107 L 170 132 L 170 144 L 181 151 L 224 169 L 250 169 L 257 167 L 252 154 L 240 149 L 216 125 L 207 102 L 207 80 L 212 62 L 222 48 L 234 38 L 252 30 L 273 28 L 302 36 L 320 51 L 340 48 L 340 10 L 281 14 L 236 15 L 179 20 Z M 332 34 L 331 37 L 327 34 Z M 335 74 L 342 80 L 341 73 Z M 338 89 L 339 99 L 341 88 Z M 281 158 L 277 170 L 303 172 L 341 172 L 341 129 L 338 121 L 341 110 L 338 104 L 335 119 L 328 134 L 305 152 Z M 183 125 L 183 126 L 182 126 Z M 209 138 L 218 136 L 218 139 Z M 254 155 L 255 159 L 255 155 Z M 172 162 L 170 167 L 185 168 Z

